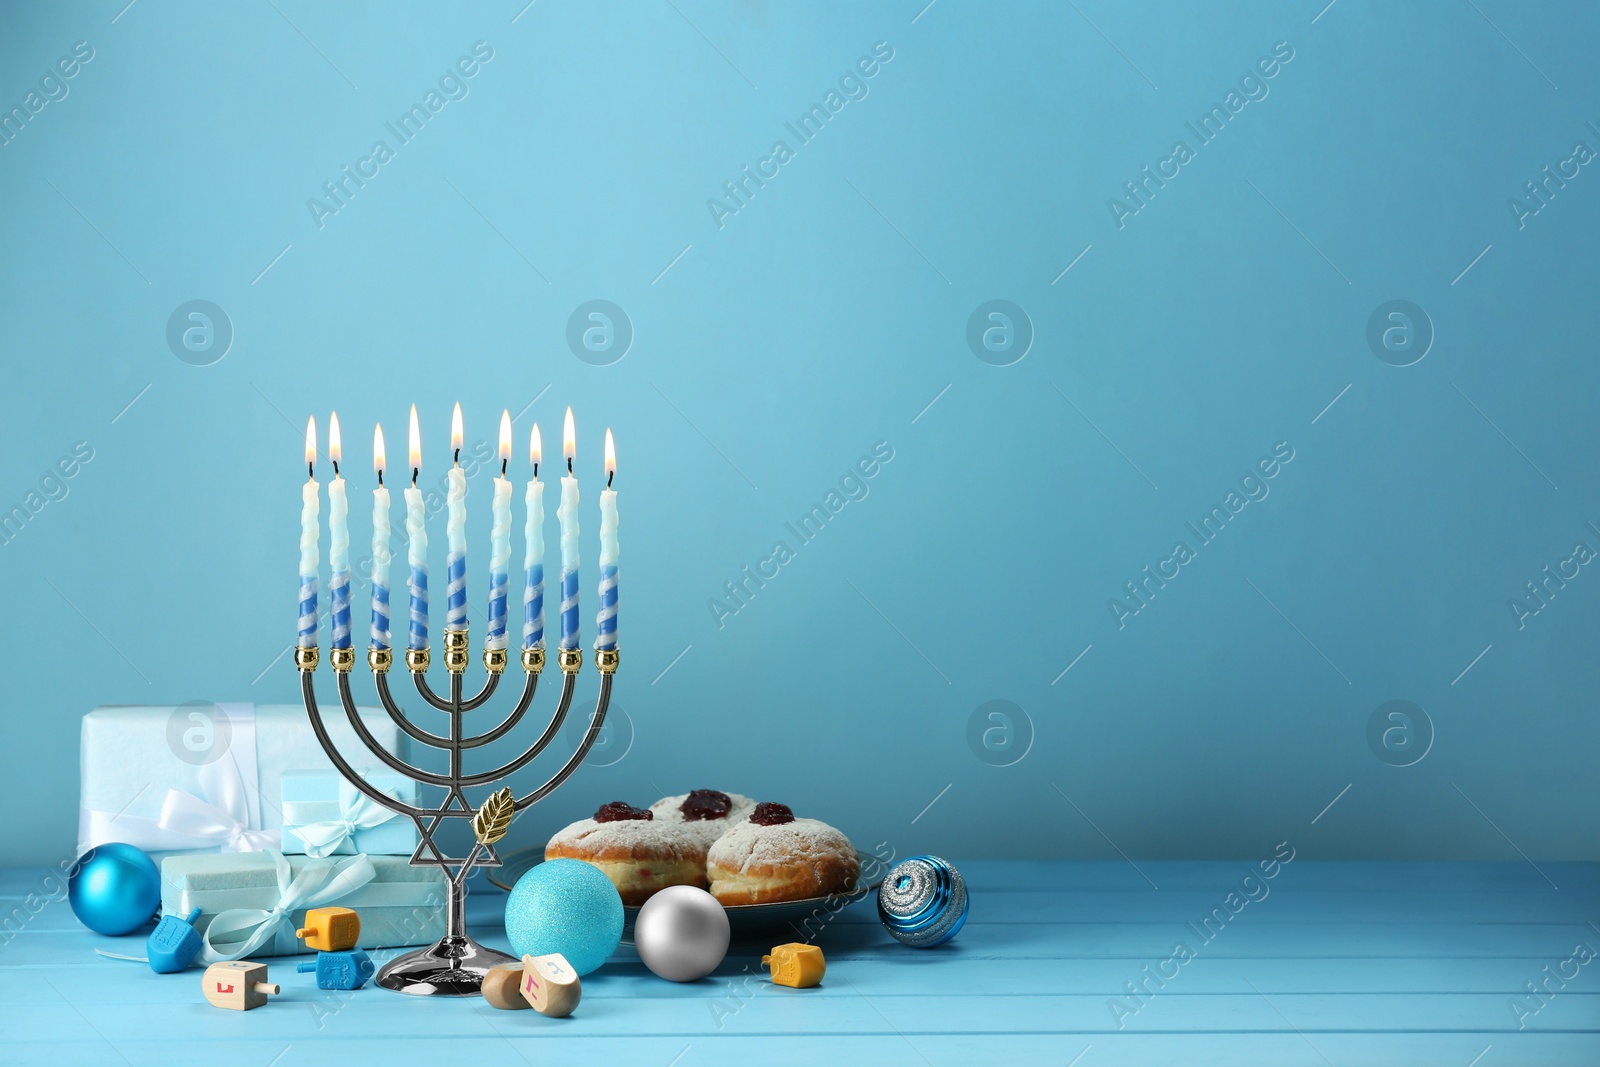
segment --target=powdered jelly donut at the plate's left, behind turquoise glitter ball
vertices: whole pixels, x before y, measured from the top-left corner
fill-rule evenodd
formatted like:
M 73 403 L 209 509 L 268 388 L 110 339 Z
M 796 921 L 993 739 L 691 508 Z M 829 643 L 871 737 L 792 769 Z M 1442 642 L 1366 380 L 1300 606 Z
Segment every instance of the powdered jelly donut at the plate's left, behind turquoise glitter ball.
M 544 846 L 544 857 L 594 864 L 629 907 L 666 886 L 706 888 L 706 846 L 683 824 L 658 822 L 648 808 L 621 800 L 560 830 Z

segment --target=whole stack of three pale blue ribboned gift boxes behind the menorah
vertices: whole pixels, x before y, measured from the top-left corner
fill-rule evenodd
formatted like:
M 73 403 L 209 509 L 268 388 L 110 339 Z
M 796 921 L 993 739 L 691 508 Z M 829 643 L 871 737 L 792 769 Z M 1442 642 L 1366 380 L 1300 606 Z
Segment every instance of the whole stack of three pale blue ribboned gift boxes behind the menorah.
M 406 757 L 381 709 L 366 731 Z M 338 750 L 366 753 L 330 718 Z M 350 760 L 384 793 L 416 803 L 418 785 L 376 757 Z M 296 931 L 314 909 L 360 913 L 360 947 L 438 941 L 448 889 L 438 867 L 411 867 L 410 817 L 371 801 L 328 761 L 301 705 L 99 707 L 83 717 L 78 853 L 125 841 L 162 869 L 162 912 L 198 910 L 198 960 L 306 952 Z

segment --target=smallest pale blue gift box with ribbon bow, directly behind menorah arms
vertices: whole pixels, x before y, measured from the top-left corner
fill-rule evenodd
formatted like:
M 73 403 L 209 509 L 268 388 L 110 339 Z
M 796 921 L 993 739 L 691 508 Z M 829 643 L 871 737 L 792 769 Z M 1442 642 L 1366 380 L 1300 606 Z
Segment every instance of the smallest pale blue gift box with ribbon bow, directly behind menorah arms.
M 416 782 L 394 771 L 362 777 L 382 793 L 416 805 Z M 285 771 L 283 851 L 301 856 L 410 856 L 416 824 L 350 785 L 336 771 Z

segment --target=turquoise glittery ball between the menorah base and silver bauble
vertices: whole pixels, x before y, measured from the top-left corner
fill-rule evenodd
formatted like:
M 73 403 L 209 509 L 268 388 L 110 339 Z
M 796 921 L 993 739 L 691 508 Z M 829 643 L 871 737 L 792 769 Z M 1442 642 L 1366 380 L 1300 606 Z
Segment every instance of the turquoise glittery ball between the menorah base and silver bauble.
M 506 897 L 506 937 L 518 957 L 560 952 L 589 974 L 622 941 L 622 897 L 594 864 L 547 859 Z

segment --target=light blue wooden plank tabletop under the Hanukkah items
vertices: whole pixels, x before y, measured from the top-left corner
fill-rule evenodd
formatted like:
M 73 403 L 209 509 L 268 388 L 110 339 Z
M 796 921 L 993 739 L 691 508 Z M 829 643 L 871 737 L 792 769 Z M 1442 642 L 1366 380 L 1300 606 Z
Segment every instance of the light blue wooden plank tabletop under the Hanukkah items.
M 1600 1064 L 1600 958 L 1574 960 L 1600 952 L 1600 865 L 1299 859 L 1237 915 L 1243 861 L 958 865 L 973 912 L 944 949 L 901 947 L 864 902 L 818 937 L 821 989 L 773 987 L 762 945 L 690 985 L 618 958 L 571 1019 L 318 992 L 293 958 L 269 960 L 282 997 L 219 1011 L 198 971 L 96 955 L 142 941 L 90 934 L 58 901 L 0 934 L 0 1062 Z M 0 872 L 3 913 L 42 878 Z M 502 901 L 485 886 L 469 909 L 501 949 Z M 1178 942 L 1190 960 L 1171 961 Z

